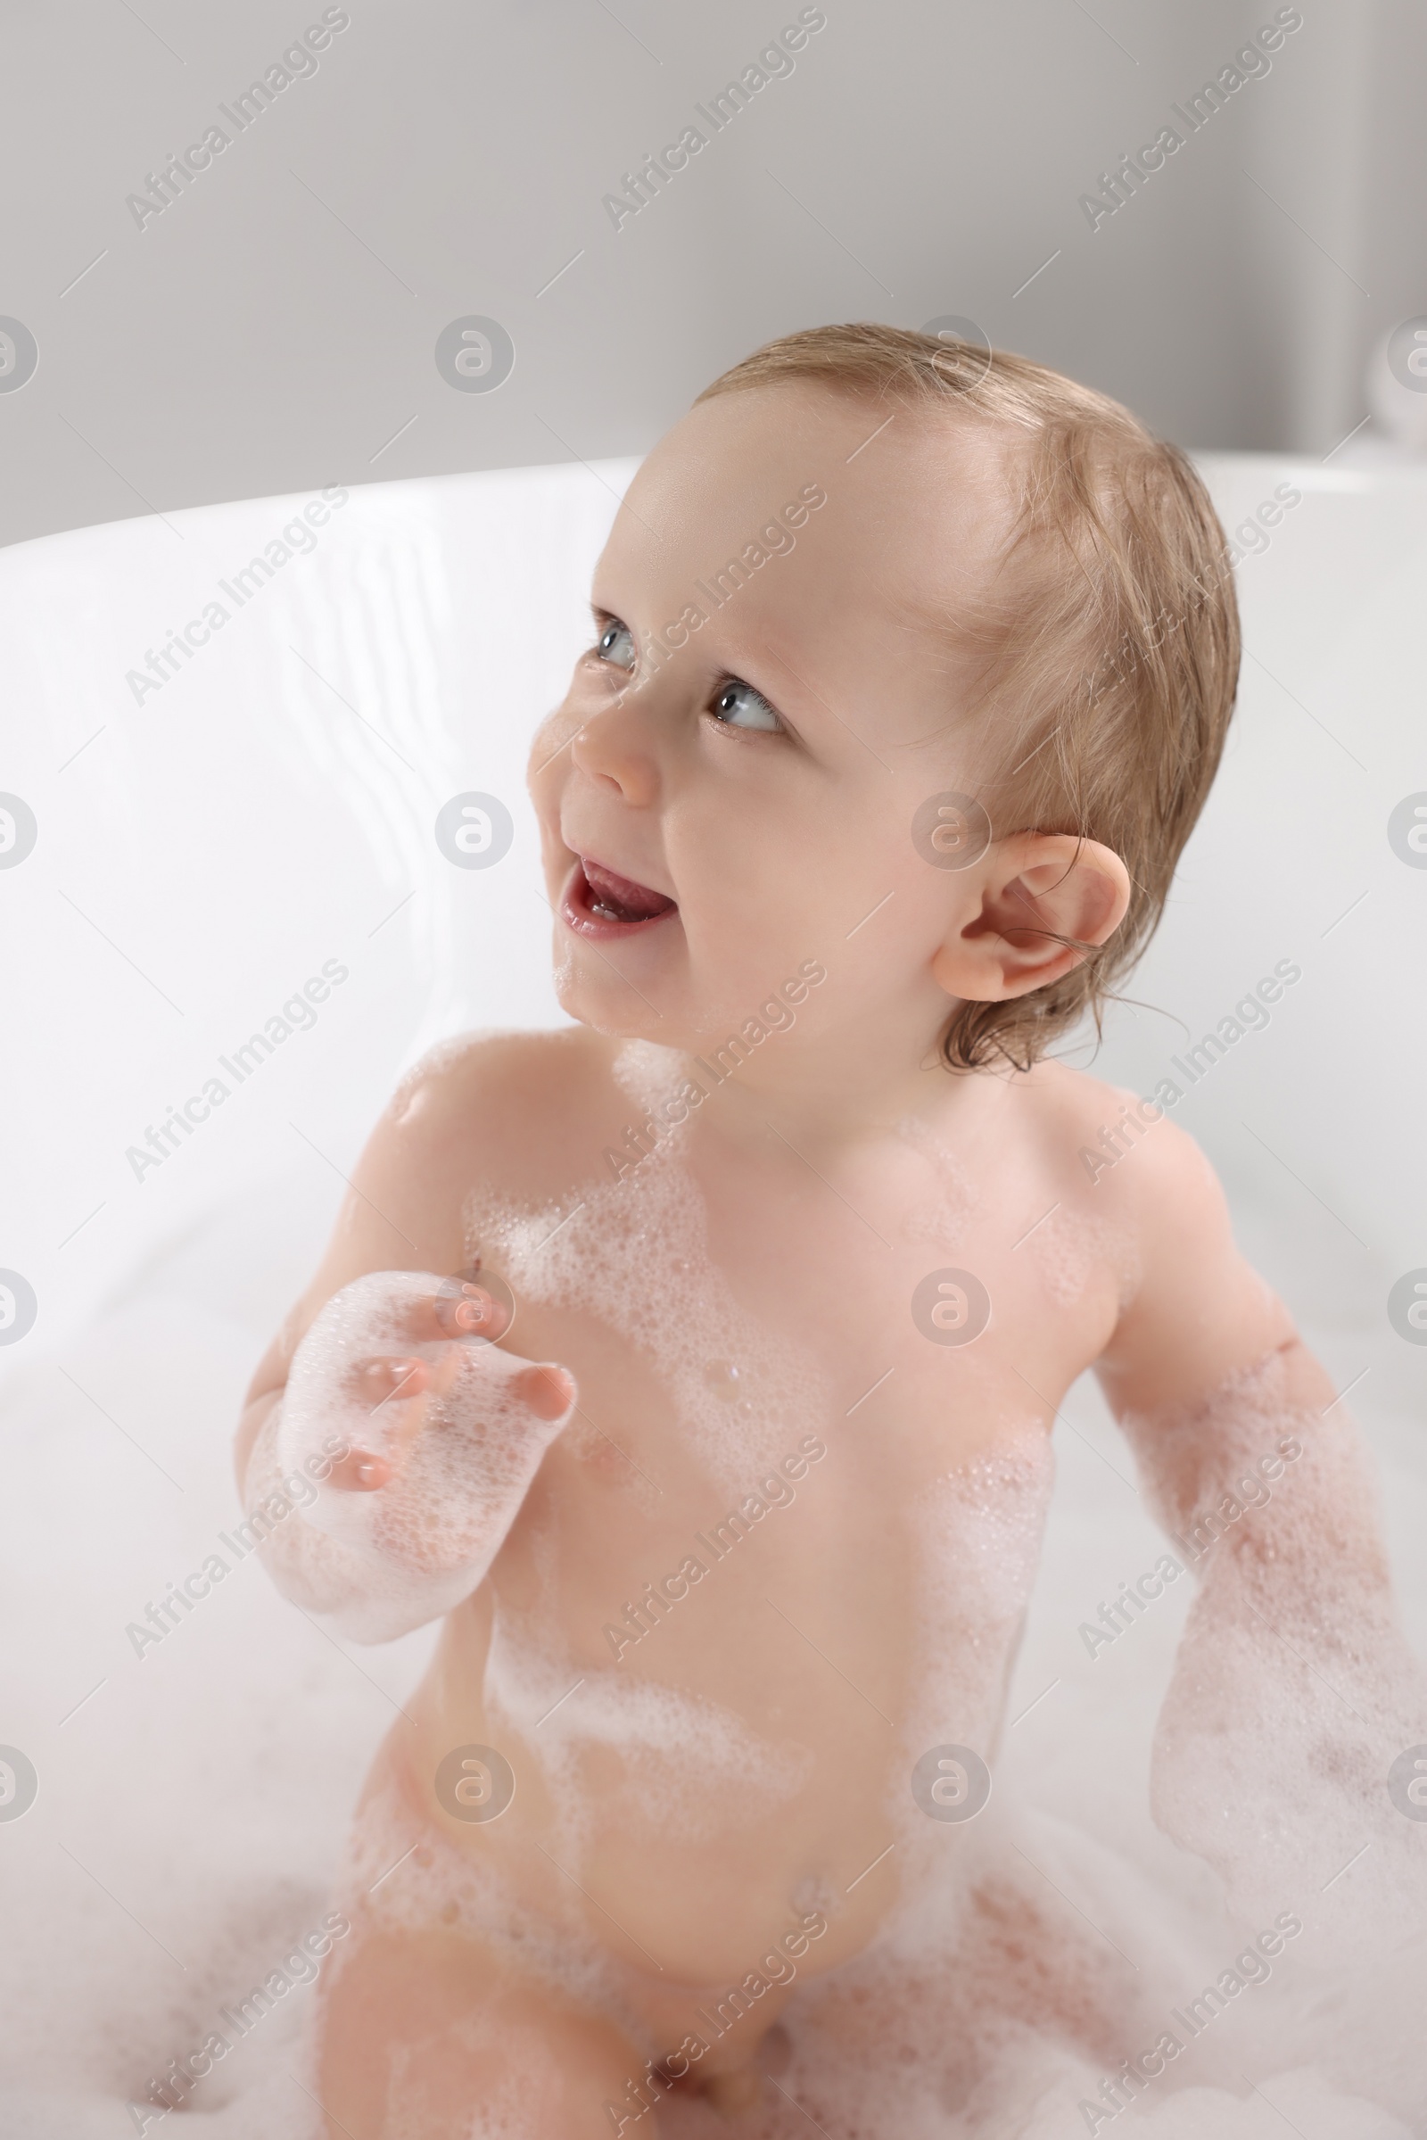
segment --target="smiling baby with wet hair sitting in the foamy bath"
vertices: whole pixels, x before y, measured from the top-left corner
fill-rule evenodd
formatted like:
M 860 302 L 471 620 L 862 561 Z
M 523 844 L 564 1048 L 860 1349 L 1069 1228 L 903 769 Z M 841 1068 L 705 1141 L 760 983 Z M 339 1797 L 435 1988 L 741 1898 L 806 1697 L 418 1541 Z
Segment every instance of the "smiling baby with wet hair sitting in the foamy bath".
M 1175 1087 L 1048 1053 L 1209 792 L 1226 544 L 1104 396 L 819 327 L 648 456 L 593 610 L 531 753 L 576 1025 L 404 1081 L 237 1436 L 248 1509 L 321 1479 L 265 1547 L 300 1607 L 445 1616 L 357 1810 L 314 2091 L 349 2140 L 903 2134 L 817 2074 L 920 2014 L 965 2099 L 967 1943 L 1123 2059 L 1115 1958 L 1035 1990 L 976 1855 L 1083 1370 L 1207 1534 L 1162 1823 L 1271 1917 L 1410 1742 L 1331 1382 Z

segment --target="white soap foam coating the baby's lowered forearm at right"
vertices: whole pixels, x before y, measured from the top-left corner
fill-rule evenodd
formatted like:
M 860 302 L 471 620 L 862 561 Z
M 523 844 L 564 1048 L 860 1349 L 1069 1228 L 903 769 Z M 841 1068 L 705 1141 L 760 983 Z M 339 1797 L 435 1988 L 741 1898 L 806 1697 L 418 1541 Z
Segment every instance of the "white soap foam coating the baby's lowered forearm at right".
M 1427 1686 L 1382 1588 L 1356 1430 L 1292 1402 L 1284 1352 L 1123 1427 L 1200 1581 L 1155 1738 L 1155 1821 L 1245 1915 L 1307 1892 L 1346 1950 L 1406 1937 L 1427 1868 L 1384 1776 L 1427 1740 Z

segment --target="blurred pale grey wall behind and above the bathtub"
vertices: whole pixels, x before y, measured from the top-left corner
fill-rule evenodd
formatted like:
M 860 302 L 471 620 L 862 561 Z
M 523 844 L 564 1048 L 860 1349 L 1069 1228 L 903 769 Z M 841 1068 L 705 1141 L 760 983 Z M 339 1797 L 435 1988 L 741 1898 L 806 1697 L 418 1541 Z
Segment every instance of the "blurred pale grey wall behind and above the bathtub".
M 1418 0 L 75 0 L 0 34 L 0 541 L 640 454 L 832 319 L 971 319 L 1183 445 L 1322 456 L 1427 312 Z M 494 389 L 436 366 L 473 317 Z

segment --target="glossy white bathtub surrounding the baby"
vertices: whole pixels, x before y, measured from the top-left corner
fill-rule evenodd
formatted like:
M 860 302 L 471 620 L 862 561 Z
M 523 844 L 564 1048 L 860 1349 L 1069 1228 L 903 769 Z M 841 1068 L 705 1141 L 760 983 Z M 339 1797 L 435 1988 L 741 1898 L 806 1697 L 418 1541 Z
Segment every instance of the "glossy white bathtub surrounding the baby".
M 1241 567 L 1234 738 L 1102 1068 L 1153 1089 L 1185 1031 L 1215 1027 L 1277 961 L 1301 965 L 1273 1023 L 1234 1042 L 1177 1119 L 1337 1387 L 1356 1378 L 1427 1650 L 1427 1346 L 1386 1318 L 1393 1282 L 1427 1267 L 1427 869 L 1386 835 L 1395 805 L 1427 790 L 1427 471 L 1204 469 L 1230 526 L 1275 486 L 1301 503 Z M 231 1526 L 242 1387 L 402 1064 L 464 1025 L 561 1017 L 522 764 L 582 644 L 588 567 L 629 473 L 355 490 L 242 606 L 235 574 L 308 499 L 0 554 L 0 790 L 39 824 L 34 852 L 0 869 L 0 1265 L 36 1297 L 34 1327 L 0 1346 L 0 1744 L 39 1774 L 24 1819 L 0 1819 L 6 2140 L 133 2131 L 124 2097 L 317 1922 L 370 1748 L 428 1652 L 430 1633 L 344 1650 L 259 1566 L 143 1658 L 124 1629 Z M 210 616 L 201 642 L 214 599 L 229 618 Z M 186 625 L 178 674 L 131 685 Z M 456 869 L 434 843 L 436 809 L 462 792 L 513 817 L 498 867 Z M 242 1081 L 220 1072 L 323 965 L 344 978 L 314 1023 Z M 229 1096 L 205 1113 L 212 1076 Z M 148 1132 L 184 1106 L 178 1149 L 156 1160 Z M 1151 1913 L 1172 1894 L 1213 1928 L 1209 1875 L 1145 1810 L 1185 1601 L 1087 1658 L 1076 1624 L 1153 1562 L 1157 1534 L 1110 1474 L 1130 1462 L 1095 1389 L 1065 1415 L 1010 1714 L 1035 1708 L 1003 1770 L 1076 1907 L 1108 1881 Z M 1408 1962 L 1386 1980 L 1401 1997 Z M 225 2061 L 190 2119 L 265 2136 L 302 2114 L 287 2078 L 302 1999 Z M 1427 2061 L 1393 2037 L 1408 2022 L 1388 1990 L 1378 2005 L 1371 2057 L 1329 2046 L 1305 2080 L 1264 2046 L 1247 2067 L 1264 2095 L 1226 2082 L 1234 2101 L 1217 2097 L 1202 2129 L 1412 2129 Z M 1149 2125 L 1179 2134 L 1181 2114 L 1166 2095 Z M 1065 2119 L 1053 2106 L 1033 2129 L 1083 2129 Z

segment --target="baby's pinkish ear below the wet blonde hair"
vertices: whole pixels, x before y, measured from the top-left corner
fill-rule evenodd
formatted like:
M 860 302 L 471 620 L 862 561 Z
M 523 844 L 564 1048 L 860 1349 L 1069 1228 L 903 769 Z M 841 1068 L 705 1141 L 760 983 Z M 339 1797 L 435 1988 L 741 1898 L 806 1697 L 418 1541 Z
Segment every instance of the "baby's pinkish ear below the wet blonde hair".
M 1121 858 L 1074 832 L 1014 832 L 967 877 L 971 914 L 958 910 L 931 972 L 969 1004 L 1003 1004 L 1059 980 L 1085 959 L 1076 944 L 1108 942 L 1130 905 Z

